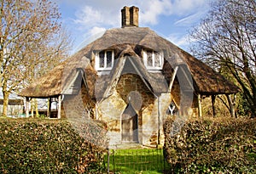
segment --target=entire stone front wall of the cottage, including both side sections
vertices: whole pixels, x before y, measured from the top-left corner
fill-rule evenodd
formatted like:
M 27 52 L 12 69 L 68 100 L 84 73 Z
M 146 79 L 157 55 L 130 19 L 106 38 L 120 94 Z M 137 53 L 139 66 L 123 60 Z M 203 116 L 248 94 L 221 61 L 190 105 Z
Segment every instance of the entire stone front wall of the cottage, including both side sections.
M 166 119 L 166 110 L 174 98 L 176 104 L 180 104 L 180 90 L 178 82 L 175 81 L 170 93 L 161 93 L 155 96 L 144 84 L 140 76 L 136 74 L 125 74 L 120 76 L 117 87 L 109 98 L 105 98 L 101 103 L 92 100 L 84 85 L 78 95 L 65 96 L 62 102 L 61 117 L 66 115 L 69 118 L 81 119 L 86 112 L 86 107 L 90 108 L 91 118 L 105 121 L 108 126 L 110 143 L 119 144 L 121 141 L 121 115 L 127 104 L 131 104 L 138 115 L 138 143 L 145 145 L 156 145 L 160 134 L 160 143 L 164 143 L 163 121 Z M 192 107 L 192 114 L 197 112 L 196 99 Z M 178 105 L 179 107 L 179 105 Z M 86 115 L 86 113 L 85 113 Z

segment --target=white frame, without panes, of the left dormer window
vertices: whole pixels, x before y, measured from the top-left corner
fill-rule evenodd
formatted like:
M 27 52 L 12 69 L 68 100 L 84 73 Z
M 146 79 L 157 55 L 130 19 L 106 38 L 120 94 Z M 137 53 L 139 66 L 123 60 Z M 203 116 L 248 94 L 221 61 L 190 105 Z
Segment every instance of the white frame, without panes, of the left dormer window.
M 100 57 L 99 57 L 99 53 L 101 53 L 102 51 L 97 51 L 96 52 L 96 58 L 95 58 L 95 69 L 96 70 L 112 70 L 113 68 L 113 60 L 114 60 L 114 52 L 113 50 L 104 50 L 104 67 L 100 67 Z M 112 52 L 112 56 L 111 56 L 111 66 L 107 67 L 107 52 Z

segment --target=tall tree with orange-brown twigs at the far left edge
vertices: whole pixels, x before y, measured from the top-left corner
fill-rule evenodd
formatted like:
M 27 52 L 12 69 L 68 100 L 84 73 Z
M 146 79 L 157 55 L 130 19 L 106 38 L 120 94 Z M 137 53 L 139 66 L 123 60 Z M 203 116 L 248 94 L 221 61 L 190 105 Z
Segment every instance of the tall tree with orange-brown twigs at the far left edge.
M 70 45 L 61 14 L 49 0 L 1 0 L 0 16 L 0 86 L 7 115 L 9 93 L 65 58 Z

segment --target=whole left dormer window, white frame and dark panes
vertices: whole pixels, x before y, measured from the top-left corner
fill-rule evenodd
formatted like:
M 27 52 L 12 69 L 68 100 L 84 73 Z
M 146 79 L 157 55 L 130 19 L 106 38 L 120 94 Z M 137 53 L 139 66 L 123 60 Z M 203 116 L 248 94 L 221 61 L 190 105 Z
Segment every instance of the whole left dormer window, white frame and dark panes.
M 96 70 L 112 70 L 114 52 L 113 50 L 105 50 L 96 53 L 95 69 Z

